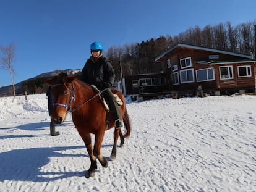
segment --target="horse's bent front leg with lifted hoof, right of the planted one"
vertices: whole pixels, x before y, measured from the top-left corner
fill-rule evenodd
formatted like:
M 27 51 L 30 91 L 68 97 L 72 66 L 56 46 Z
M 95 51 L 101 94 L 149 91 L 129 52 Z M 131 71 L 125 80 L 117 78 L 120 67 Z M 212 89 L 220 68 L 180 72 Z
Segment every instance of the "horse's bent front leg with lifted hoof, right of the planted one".
M 103 157 L 103 155 L 100 152 L 104 133 L 105 133 L 105 130 L 103 130 L 103 131 L 100 130 L 100 131 L 98 131 L 98 133 L 95 134 L 95 143 L 94 143 L 93 154 L 95 157 L 98 158 L 102 167 L 108 167 L 108 161 L 106 161 L 105 157 Z

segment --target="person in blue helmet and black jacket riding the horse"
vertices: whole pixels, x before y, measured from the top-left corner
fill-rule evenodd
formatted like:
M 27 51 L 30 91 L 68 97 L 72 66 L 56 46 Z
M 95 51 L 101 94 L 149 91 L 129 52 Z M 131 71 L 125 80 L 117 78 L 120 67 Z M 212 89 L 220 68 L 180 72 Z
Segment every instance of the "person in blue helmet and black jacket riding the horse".
M 98 90 L 105 90 L 102 94 L 108 100 L 110 109 L 116 119 L 115 127 L 121 128 L 123 125 L 120 120 L 119 107 L 110 89 L 114 83 L 114 69 L 111 62 L 103 57 L 102 50 L 103 46 L 100 42 L 96 41 L 91 44 L 90 51 L 92 56 L 90 56 L 83 67 L 82 81 L 89 85 L 95 85 Z

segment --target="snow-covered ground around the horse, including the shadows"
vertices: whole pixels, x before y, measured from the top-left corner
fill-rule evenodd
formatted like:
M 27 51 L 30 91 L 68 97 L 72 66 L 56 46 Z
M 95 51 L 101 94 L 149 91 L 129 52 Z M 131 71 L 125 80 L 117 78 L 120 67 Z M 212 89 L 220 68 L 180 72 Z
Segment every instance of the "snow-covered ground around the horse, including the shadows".
M 127 98 L 129 100 L 129 98 Z M 70 115 L 49 135 L 46 94 L 0 98 L 0 191 L 255 191 L 256 96 L 128 102 L 132 135 L 93 178 Z M 113 129 L 101 152 L 109 159 Z

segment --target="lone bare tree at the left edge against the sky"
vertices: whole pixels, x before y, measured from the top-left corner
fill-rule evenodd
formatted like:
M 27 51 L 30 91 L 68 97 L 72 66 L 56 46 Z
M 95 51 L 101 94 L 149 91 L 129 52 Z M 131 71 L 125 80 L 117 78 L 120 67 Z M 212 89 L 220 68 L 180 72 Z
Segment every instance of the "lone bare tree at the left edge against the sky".
M 11 43 L 7 47 L 0 46 L 0 61 L 2 69 L 8 70 L 10 73 L 11 81 L 12 81 L 12 90 L 15 98 L 15 85 L 14 85 L 14 67 L 13 63 L 15 60 L 15 44 Z

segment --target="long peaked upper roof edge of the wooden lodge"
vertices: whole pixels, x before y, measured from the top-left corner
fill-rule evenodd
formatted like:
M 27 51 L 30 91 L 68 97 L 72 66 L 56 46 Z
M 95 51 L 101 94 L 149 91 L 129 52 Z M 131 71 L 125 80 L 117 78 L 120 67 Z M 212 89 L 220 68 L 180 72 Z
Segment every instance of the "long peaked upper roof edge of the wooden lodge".
M 253 59 L 253 56 L 250 56 L 250 55 L 247 55 L 247 54 L 241 54 L 241 53 L 231 52 L 231 51 L 224 51 L 224 50 L 220 50 L 220 49 L 205 48 L 205 47 L 202 47 L 202 46 L 195 46 L 195 45 L 192 45 L 192 44 L 177 43 L 173 47 L 168 49 L 167 51 L 163 52 L 163 54 L 161 54 L 160 56 L 156 57 L 155 58 L 155 62 L 160 60 L 162 57 L 164 57 L 166 54 L 168 54 L 169 52 L 173 51 L 173 49 L 176 49 L 177 47 L 184 47 L 184 48 L 190 48 L 190 49 L 198 49 L 198 50 L 203 50 L 203 51 L 211 51 L 211 52 L 216 52 L 216 53 L 220 53 L 220 54 L 228 54 L 228 55 L 231 55 L 231 56 L 237 56 L 237 57 L 244 57 L 244 58 L 247 58 L 247 59 Z

